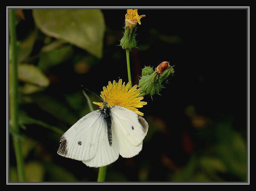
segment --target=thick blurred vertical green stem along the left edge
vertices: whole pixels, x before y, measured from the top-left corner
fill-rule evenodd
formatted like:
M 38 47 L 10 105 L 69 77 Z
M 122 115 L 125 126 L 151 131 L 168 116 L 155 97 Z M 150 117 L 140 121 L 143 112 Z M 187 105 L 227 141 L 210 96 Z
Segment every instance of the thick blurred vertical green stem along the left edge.
M 18 122 L 18 71 L 17 71 L 17 47 L 16 47 L 16 26 L 15 26 L 15 9 L 9 11 L 10 15 L 10 46 L 12 51 L 11 83 L 10 83 L 10 119 L 12 121 L 12 130 L 18 136 L 12 135 L 13 147 L 17 162 L 17 172 L 20 182 L 25 182 L 24 159 L 21 152 L 21 143 L 19 139 L 19 122 Z

